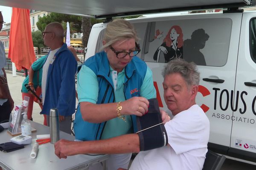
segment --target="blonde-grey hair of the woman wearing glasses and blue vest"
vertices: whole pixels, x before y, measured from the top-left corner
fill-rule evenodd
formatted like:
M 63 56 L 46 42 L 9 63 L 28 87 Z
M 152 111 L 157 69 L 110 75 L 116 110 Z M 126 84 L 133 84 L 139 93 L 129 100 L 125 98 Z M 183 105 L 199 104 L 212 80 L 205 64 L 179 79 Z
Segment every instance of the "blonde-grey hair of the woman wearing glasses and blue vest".
M 106 44 L 103 45 L 102 48 L 109 47 L 119 40 L 131 38 L 134 38 L 136 42 L 139 40 L 134 26 L 126 20 L 113 20 L 111 23 L 108 23 L 108 26 L 105 29 L 103 40 L 106 41 Z

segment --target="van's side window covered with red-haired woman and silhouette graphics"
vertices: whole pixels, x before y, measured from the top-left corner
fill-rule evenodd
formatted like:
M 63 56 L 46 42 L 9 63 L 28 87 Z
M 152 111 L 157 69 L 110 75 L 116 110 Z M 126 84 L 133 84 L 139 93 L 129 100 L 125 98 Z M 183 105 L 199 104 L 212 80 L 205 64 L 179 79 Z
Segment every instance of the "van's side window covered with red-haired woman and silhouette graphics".
M 166 20 L 134 26 L 140 33 L 139 56 L 145 62 L 165 63 L 174 58 L 209 66 L 227 62 L 232 26 L 229 18 Z

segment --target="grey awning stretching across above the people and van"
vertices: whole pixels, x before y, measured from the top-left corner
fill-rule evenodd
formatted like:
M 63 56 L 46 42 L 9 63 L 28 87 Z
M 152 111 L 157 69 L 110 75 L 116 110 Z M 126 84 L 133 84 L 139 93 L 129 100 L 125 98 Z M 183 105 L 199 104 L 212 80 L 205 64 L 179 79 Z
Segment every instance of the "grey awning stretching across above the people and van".
M 0 0 L 1 6 L 63 14 L 113 17 L 169 11 L 254 6 L 256 0 Z

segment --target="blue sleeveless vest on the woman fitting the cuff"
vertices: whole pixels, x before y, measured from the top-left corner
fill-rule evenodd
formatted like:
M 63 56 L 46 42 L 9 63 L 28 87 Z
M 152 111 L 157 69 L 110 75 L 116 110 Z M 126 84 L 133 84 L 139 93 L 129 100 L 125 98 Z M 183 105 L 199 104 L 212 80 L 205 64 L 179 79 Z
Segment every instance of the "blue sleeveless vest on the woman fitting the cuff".
M 84 62 L 84 65 L 89 67 L 98 77 L 99 82 L 99 96 L 97 104 L 112 103 L 115 101 L 113 81 L 111 79 L 111 71 L 109 67 L 108 57 L 104 51 L 97 53 L 95 56 L 90 57 Z M 125 99 L 130 99 L 134 96 L 140 96 L 140 90 L 137 93 L 130 91 L 135 88 L 140 89 L 147 71 L 147 65 L 138 57 L 133 57 L 131 62 L 125 67 L 125 83 L 123 91 Z M 117 113 L 116 113 L 117 114 Z M 132 122 L 134 132 L 137 132 L 136 116 L 132 115 Z M 89 141 L 99 140 L 106 122 L 90 123 L 82 119 L 80 112 L 80 105 L 76 111 L 74 120 L 74 132 L 76 139 Z

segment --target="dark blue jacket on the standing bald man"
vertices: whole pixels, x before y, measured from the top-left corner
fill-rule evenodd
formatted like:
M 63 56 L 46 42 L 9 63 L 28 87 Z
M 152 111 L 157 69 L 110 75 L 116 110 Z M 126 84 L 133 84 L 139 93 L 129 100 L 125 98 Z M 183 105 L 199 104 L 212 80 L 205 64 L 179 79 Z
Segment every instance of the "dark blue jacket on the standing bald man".
M 66 43 L 61 46 L 53 58 L 55 60 L 48 68 L 45 99 L 41 113 L 49 115 L 51 108 L 57 108 L 61 116 L 70 116 L 75 113 L 76 108 L 77 62 Z

